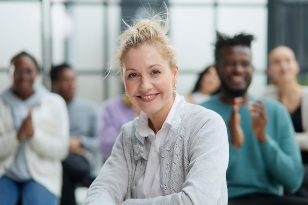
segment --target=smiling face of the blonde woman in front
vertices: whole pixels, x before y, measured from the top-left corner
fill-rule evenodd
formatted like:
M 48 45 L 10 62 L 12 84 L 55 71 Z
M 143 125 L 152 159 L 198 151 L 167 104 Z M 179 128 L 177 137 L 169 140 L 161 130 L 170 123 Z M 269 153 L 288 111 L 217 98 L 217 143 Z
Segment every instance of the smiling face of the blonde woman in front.
M 123 80 L 127 96 L 149 116 L 169 113 L 177 77 L 178 67 L 170 68 L 153 45 L 131 48 L 124 56 Z

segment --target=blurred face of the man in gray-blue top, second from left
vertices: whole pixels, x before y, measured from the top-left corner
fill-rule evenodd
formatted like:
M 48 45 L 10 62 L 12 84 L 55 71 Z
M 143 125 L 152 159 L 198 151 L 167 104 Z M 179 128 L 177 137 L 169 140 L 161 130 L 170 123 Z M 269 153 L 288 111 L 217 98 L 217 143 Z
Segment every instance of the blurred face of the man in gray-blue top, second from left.
M 75 96 L 76 91 L 76 74 L 70 68 L 62 69 L 53 82 L 53 91 L 60 94 L 65 101 L 70 101 Z

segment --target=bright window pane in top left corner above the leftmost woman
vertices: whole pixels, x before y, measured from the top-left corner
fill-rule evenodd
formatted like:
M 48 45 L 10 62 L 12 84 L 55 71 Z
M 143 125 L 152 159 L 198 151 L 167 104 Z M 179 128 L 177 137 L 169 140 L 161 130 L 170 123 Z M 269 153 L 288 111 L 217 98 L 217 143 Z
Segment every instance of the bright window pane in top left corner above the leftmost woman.
M 0 67 L 6 68 L 13 55 L 23 50 L 41 65 L 41 3 L 2 1 L 0 19 Z

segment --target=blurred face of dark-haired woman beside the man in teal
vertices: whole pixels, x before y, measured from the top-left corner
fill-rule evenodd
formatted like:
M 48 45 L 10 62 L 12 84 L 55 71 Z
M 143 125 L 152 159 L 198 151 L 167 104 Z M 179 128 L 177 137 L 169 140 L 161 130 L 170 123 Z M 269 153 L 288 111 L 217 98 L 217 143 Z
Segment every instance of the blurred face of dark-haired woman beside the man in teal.
M 203 75 L 199 91 L 203 94 L 213 94 L 220 88 L 220 85 L 221 83 L 216 68 L 212 66 Z

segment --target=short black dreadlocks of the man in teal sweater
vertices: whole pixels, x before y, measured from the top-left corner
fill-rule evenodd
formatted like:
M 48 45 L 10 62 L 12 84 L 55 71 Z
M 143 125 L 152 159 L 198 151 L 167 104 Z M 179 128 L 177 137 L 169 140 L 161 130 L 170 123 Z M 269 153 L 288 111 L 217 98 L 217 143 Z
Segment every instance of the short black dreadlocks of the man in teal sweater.
M 216 43 L 215 43 L 215 62 L 218 62 L 219 54 L 222 48 L 232 47 L 232 46 L 246 46 L 250 48 L 251 41 L 255 37 L 251 34 L 240 33 L 233 37 L 227 36 L 225 34 L 216 32 Z

